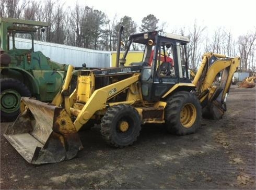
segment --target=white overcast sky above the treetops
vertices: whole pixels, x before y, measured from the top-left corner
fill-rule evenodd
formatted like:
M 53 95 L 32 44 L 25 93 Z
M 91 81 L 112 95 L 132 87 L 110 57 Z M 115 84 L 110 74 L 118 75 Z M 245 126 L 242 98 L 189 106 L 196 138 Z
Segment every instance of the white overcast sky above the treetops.
M 76 0 L 61 0 L 67 6 L 74 6 Z M 194 21 L 197 25 L 207 27 L 207 32 L 225 28 L 234 37 L 253 32 L 256 29 L 255 0 L 77 0 L 80 5 L 88 5 L 103 11 L 112 19 L 117 15 L 118 20 L 127 15 L 141 25 L 143 17 L 153 14 L 159 23 L 166 22 L 166 32 L 172 32 L 181 27 L 192 28 Z

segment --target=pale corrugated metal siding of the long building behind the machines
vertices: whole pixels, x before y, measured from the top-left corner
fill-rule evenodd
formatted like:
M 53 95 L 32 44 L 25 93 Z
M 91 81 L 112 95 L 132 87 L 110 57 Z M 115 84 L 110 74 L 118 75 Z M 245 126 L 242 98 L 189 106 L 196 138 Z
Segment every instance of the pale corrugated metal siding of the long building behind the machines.
M 15 38 L 15 43 L 20 48 L 30 48 L 31 40 Z M 12 48 L 10 38 L 10 48 Z M 55 43 L 34 41 L 34 51 L 42 52 L 46 57 L 51 58 L 60 64 L 71 64 L 75 67 L 110 67 L 111 53 L 74 46 L 67 46 Z

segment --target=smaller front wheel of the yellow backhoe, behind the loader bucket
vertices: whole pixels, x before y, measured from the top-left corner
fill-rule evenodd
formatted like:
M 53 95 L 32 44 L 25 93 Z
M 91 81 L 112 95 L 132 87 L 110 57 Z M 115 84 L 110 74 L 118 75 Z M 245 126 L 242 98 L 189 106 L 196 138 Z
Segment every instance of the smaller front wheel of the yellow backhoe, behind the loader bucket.
M 101 134 L 104 140 L 114 147 L 132 145 L 141 131 L 141 117 L 137 110 L 125 104 L 108 108 L 101 119 Z

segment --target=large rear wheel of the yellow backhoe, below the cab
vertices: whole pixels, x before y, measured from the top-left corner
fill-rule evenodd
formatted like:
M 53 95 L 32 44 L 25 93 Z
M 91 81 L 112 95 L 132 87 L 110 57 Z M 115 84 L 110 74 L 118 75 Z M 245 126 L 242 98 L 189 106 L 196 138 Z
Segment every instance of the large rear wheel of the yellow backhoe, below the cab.
M 191 134 L 201 125 L 202 108 L 190 92 L 177 92 L 167 100 L 165 123 L 167 130 L 178 135 Z

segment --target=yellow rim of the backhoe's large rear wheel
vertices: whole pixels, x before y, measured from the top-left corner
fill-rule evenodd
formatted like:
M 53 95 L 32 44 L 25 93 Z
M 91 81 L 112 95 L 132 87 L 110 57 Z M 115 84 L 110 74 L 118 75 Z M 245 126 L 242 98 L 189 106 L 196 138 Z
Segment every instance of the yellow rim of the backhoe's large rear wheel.
M 190 128 L 196 120 L 196 109 L 193 104 L 185 104 L 180 112 L 180 122 L 185 128 Z

